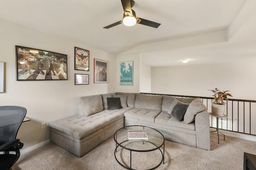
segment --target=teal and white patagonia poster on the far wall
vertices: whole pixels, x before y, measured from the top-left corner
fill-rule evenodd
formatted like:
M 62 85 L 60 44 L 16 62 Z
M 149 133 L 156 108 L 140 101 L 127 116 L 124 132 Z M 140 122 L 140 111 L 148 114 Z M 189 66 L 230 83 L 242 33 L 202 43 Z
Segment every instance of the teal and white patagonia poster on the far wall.
M 133 86 L 133 61 L 120 62 L 121 86 Z

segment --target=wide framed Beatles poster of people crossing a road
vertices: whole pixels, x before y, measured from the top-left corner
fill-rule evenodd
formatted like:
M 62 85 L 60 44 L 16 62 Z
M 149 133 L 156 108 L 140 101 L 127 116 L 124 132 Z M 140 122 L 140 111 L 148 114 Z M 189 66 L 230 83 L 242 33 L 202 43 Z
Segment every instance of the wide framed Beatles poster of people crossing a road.
M 68 80 L 67 55 L 30 47 L 16 48 L 16 80 Z

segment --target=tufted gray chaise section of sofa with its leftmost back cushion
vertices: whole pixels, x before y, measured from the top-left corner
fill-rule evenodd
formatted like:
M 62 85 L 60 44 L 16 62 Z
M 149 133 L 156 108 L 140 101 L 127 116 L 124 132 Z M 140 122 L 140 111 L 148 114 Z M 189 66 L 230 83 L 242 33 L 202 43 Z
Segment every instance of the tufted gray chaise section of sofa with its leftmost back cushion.
M 86 103 L 81 103 L 85 102 Z M 101 104 L 101 106 L 99 104 Z M 100 107 L 100 112 L 90 106 Z M 81 107 L 81 105 L 83 105 Z M 116 110 L 103 109 L 100 95 L 80 98 L 80 111 L 82 115 L 74 115 L 49 123 L 50 141 L 78 157 L 83 156 L 124 126 L 124 112 L 132 109 L 126 107 Z

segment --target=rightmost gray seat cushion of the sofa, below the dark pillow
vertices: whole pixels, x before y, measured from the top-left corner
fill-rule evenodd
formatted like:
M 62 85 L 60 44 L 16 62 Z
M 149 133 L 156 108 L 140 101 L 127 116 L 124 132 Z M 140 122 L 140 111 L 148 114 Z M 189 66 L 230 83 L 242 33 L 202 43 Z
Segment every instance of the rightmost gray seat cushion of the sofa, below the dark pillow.
M 155 123 L 160 123 L 163 125 L 170 125 L 175 127 L 181 127 L 189 130 L 195 130 L 195 123 L 186 124 L 184 121 L 178 121 L 174 117 L 171 117 L 167 111 L 162 111 L 155 119 Z

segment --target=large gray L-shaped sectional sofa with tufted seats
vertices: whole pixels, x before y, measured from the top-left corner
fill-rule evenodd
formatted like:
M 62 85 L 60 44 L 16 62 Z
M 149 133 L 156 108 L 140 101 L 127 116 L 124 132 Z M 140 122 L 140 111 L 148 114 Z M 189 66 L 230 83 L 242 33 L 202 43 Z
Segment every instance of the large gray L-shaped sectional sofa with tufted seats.
M 110 99 L 118 99 L 120 107 Z M 199 98 L 140 93 L 81 97 L 77 115 L 49 123 L 50 141 L 81 157 L 129 125 L 152 127 L 169 141 L 210 150 L 209 115 Z

